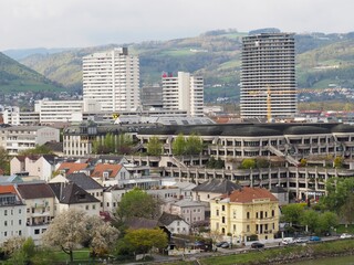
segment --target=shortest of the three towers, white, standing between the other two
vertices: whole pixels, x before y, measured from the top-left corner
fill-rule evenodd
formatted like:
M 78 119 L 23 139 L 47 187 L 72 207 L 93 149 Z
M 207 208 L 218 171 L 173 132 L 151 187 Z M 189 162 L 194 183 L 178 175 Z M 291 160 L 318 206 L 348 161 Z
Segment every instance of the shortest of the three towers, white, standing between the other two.
M 163 105 L 165 109 L 186 110 L 188 116 L 204 116 L 204 78 L 190 73 L 163 74 Z

